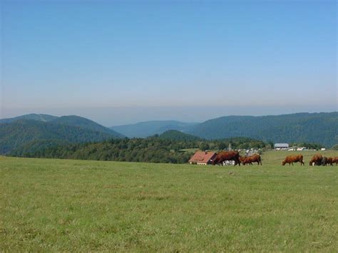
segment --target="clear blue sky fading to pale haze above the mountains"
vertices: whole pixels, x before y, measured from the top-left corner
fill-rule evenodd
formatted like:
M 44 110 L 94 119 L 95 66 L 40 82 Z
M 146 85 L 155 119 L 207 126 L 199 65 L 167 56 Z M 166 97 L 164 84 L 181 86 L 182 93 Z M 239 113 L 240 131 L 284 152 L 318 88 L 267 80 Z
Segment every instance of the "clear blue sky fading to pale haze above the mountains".
M 336 1 L 0 3 L 0 118 L 338 110 Z

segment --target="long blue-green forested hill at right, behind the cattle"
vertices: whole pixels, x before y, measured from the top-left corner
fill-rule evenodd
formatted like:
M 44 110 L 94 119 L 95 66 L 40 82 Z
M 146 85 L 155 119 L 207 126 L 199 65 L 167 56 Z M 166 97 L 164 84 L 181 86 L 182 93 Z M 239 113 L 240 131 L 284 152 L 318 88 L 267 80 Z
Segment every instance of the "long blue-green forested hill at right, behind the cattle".
M 243 136 L 274 143 L 338 143 L 338 113 L 295 113 L 271 116 L 227 116 L 185 129 L 206 139 Z

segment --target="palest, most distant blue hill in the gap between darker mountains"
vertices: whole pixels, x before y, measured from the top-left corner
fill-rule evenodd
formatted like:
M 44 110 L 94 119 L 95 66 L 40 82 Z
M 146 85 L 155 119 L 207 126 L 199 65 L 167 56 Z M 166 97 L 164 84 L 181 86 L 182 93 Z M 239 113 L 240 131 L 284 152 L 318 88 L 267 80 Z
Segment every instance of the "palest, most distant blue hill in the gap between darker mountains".
M 160 135 L 167 130 L 183 130 L 196 123 L 184 123 L 176 120 L 153 120 L 131 125 L 117 125 L 111 127 L 128 138 L 145 138 L 151 135 Z

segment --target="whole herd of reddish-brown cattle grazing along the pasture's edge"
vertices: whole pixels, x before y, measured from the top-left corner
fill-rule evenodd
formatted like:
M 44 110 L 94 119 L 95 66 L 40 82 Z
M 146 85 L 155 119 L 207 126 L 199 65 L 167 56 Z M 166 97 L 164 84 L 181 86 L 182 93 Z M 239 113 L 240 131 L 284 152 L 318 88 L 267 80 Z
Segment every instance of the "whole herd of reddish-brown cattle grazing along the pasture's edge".
M 262 159 L 260 155 L 250 155 L 250 156 L 240 156 L 240 153 L 236 150 L 232 151 L 222 151 L 217 153 L 216 157 L 211 160 L 212 165 L 223 165 L 225 161 L 235 161 L 235 165 L 242 165 L 250 164 L 252 165 L 253 162 L 257 162 L 257 165 L 262 165 Z M 303 155 L 287 155 L 285 160 L 282 161 L 282 165 L 289 163 L 289 165 L 293 165 L 294 162 L 300 162 L 300 165 L 304 165 Z M 323 155 L 317 154 L 314 155 L 311 160 L 309 161 L 309 165 L 314 166 L 325 166 L 325 165 L 338 165 L 338 157 L 336 158 L 327 158 Z

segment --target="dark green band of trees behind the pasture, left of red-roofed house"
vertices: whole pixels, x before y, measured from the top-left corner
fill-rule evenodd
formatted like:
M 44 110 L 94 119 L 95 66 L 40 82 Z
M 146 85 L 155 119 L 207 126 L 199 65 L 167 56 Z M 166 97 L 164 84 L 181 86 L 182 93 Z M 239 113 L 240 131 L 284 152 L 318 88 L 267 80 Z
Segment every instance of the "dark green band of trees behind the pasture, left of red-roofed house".
M 26 158 L 61 158 L 80 160 L 109 160 L 126 162 L 188 162 L 195 149 L 223 150 L 231 143 L 232 148 L 266 148 L 268 143 L 250 138 L 227 140 L 173 140 L 153 136 L 150 138 L 123 138 L 97 143 L 73 143 L 48 145 L 48 140 L 26 145 L 9 155 Z M 188 151 L 187 151 L 188 150 Z

